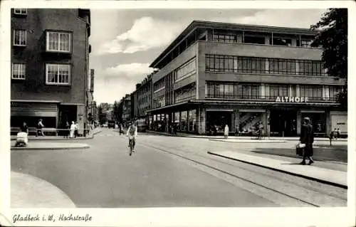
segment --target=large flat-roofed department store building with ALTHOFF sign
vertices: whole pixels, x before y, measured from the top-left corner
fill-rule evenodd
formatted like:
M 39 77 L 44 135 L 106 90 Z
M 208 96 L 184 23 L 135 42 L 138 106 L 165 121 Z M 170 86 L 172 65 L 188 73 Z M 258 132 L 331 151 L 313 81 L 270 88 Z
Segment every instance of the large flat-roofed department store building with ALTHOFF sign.
M 345 80 L 328 75 L 317 31 L 193 21 L 150 65 L 152 120 L 178 131 L 212 128 L 296 136 L 310 117 L 315 133 L 347 132 L 337 93 Z

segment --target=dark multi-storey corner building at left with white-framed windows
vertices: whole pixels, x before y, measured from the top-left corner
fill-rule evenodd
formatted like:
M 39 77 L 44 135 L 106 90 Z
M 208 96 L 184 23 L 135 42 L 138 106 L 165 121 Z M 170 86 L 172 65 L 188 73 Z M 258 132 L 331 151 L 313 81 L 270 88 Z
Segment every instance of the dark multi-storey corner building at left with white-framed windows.
M 85 127 L 89 36 L 90 10 L 12 9 L 12 127 Z

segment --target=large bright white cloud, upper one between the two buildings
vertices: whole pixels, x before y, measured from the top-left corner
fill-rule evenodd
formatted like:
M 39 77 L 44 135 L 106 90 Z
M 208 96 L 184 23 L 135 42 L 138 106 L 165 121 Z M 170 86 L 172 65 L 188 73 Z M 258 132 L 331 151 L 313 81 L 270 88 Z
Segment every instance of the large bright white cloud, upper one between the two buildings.
M 98 54 L 136 53 L 166 46 L 183 27 L 181 23 L 142 17 L 135 20 L 130 30 L 121 33 L 115 40 L 103 43 Z

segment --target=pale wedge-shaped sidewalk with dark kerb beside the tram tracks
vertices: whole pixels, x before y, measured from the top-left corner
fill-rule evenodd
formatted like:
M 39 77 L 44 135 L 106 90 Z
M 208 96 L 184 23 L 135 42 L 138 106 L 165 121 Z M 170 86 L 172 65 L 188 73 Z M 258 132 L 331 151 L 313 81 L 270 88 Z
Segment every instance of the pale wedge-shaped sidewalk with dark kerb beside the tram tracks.
M 249 154 L 242 154 L 239 152 L 208 152 L 208 154 L 233 159 L 239 162 L 253 164 L 258 167 L 273 169 L 281 171 L 293 176 L 300 176 L 306 179 L 319 181 L 323 184 L 330 184 L 333 186 L 347 189 L 347 171 L 338 171 L 334 169 L 325 169 L 315 167 L 313 165 L 300 165 L 300 159 L 295 159 L 295 162 L 288 162 L 280 159 L 272 159 L 267 157 L 258 157 Z

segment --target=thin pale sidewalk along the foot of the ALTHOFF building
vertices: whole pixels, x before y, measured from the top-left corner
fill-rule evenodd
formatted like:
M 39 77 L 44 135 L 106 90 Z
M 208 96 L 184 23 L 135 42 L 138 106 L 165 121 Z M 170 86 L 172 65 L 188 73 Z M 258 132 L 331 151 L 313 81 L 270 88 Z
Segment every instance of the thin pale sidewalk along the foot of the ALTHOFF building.
M 147 130 L 148 133 L 152 134 L 162 134 L 170 137 L 190 137 L 190 138 L 199 138 L 199 139 L 225 139 L 224 136 L 208 136 L 208 135 L 199 135 L 199 134 L 188 134 L 188 133 L 182 133 L 182 132 L 177 132 L 177 134 L 170 134 L 168 132 L 155 132 L 155 131 L 150 131 Z M 253 139 L 254 141 L 257 141 L 258 139 L 254 139 L 254 137 L 236 137 L 236 136 L 229 136 L 227 139 Z M 265 137 L 264 139 L 266 140 L 287 140 L 287 141 L 298 141 L 299 137 Z M 261 139 L 261 140 L 264 140 Z M 329 141 L 328 138 L 315 138 L 315 141 Z M 337 139 L 336 141 L 343 141 L 347 142 L 347 139 Z

